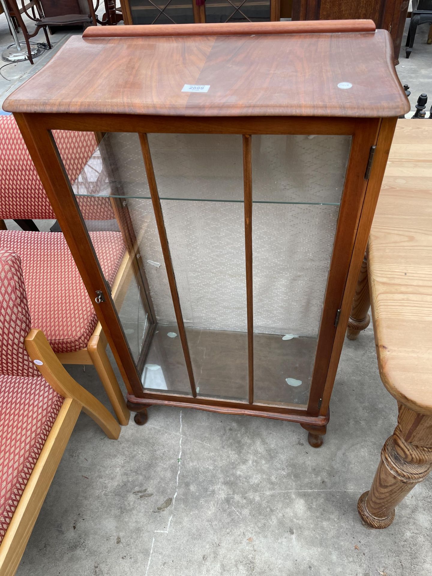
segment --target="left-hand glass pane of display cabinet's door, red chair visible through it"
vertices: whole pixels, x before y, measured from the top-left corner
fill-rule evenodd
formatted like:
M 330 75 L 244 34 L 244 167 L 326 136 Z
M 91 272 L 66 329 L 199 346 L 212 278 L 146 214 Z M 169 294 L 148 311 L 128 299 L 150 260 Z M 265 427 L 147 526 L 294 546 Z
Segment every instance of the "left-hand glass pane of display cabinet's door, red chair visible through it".
M 190 395 L 138 135 L 105 134 L 97 144 L 91 132 L 69 132 L 68 141 L 58 141 L 60 157 L 143 386 Z

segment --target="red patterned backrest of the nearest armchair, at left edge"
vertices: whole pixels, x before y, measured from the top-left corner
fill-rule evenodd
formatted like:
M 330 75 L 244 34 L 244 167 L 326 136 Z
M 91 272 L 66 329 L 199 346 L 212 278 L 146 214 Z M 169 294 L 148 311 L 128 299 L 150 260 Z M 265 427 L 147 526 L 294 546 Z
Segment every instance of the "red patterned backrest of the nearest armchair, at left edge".
M 30 328 L 20 257 L 0 248 L 0 374 L 39 374 L 24 346 Z

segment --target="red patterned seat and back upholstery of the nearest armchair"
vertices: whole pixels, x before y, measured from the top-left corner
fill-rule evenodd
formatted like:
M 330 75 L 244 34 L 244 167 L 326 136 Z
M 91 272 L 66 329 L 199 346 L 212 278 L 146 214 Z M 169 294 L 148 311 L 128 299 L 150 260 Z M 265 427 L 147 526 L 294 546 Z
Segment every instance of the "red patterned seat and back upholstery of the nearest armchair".
M 62 406 L 24 347 L 30 329 L 20 258 L 0 249 L 0 542 Z

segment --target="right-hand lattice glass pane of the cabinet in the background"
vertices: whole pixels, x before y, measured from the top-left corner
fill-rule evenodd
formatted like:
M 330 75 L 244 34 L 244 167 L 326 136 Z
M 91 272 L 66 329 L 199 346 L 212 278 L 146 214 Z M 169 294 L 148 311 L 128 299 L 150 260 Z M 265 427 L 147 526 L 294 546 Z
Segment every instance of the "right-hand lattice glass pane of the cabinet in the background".
M 206 0 L 206 22 L 270 20 L 270 0 Z

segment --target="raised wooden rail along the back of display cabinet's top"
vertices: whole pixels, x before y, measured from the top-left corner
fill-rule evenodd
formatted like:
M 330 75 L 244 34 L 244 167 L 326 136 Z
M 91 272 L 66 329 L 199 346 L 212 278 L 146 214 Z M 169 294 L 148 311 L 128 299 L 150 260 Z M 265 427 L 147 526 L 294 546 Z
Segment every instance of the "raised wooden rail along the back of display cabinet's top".
M 142 36 L 238 36 L 251 34 L 311 34 L 375 32 L 372 20 L 309 20 L 294 22 L 221 22 L 217 24 L 153 24 L 89 26 L 82 37 L 136 38 Z

